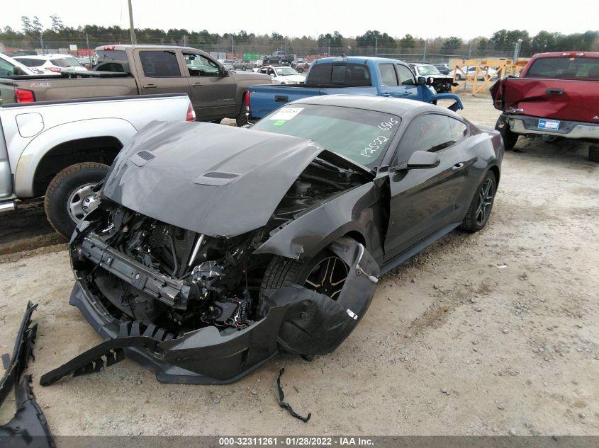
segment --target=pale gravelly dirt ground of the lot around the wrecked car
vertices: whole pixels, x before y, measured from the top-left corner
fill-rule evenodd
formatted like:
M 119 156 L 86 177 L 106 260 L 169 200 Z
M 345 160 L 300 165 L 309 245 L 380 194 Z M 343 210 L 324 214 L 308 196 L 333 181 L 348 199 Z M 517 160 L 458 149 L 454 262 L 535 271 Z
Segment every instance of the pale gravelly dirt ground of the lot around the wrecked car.
M 464 102 L 494 125 L 488 98 Z M 31 205 L 0 221 L 0 352 L 39 302 L 30 372 L 55 435 L 599 435 L 599 166 L 586 148 L 521 139 L 484 231 L 454 231 L 384 276 L 336 352 L 280 355 L 228 386 L 159 384 L 129 360 L 39 386 L 100 338 L 68 305 L 65 244 Z M 276 404 L 280 367 L 307 424 Z

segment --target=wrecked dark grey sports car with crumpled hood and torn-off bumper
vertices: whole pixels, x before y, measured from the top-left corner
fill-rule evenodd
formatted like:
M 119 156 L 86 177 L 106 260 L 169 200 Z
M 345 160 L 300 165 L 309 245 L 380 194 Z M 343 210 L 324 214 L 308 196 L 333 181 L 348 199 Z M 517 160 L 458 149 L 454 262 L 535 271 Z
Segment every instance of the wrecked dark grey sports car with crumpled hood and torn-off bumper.
M 331 352 L 379 275 L 483 229 L 502 159 L 498 132 L 395 98 L 306 98 L 252 129 L 152 122 L 71 241 L 70 303 L 106 342 L 43 384 L 123 356 L 223 384 L 279 351 Z

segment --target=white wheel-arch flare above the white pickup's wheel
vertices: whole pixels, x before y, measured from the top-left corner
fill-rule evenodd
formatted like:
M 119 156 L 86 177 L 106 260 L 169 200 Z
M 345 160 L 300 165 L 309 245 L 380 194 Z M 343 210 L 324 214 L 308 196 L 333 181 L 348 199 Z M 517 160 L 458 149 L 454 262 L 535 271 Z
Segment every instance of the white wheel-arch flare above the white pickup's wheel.
M 124 146 L 137 132 L 122 118 L 93 118 L 50 127 L 27 144 L 15 168 L 15 193 L 18 197 L 33 197 L 33 179 L 40 161 L 59 144 L 93 137 L 115 137 Z

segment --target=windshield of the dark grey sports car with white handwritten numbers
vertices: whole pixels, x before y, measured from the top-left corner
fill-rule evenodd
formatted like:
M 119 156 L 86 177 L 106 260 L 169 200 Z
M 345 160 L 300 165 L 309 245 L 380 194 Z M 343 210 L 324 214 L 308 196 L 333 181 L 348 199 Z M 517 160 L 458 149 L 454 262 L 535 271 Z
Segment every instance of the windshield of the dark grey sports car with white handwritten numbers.
M 369 168 L 380 163 L 399 127 L 388 113 L 331 105 L 298 104 L 275 110 L 253 130 L 311 139 Z

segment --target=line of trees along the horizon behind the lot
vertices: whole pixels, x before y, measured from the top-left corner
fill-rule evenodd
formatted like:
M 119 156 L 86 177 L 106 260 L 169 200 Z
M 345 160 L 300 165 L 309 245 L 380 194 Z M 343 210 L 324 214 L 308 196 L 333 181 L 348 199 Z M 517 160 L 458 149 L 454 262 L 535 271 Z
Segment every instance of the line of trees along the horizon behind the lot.
M 50 16 L 47 25 L 37 16 L 21 18 L 21 30 L 5 26 L 0 30 L 0 43 L 5 47 L 23 50 L 34 48 L 64 48 L 69 44 L 79 47 L 97 47 L 113 43 L 130 43 L 128 28 L 99 25 L 66 26 L 59 16 Z M 171 28 L 136 28 L 138 43 L 186 45 L 206 51 L 268 54 L 284 50 L 300 56 L 306 54 L 448 54 L 462 57 L 509 57 L 516 42 L 520 42 L 520 56 L 530 57 L 538 52 L 599 51 L 599 31 L 563 34 L 542 30 L 530 35 L 526 30 L 498 30 L 490 37 L 464 40 L 457 36 L 423 39 L 410 34 L 393 37 L 378 30 L 368 30 L 355 38 L 338 31 L 312 36 L 290 37 L 281 33 L 259 35 L 241 30 L 238 33 L 211 33 L 208 30 Z

